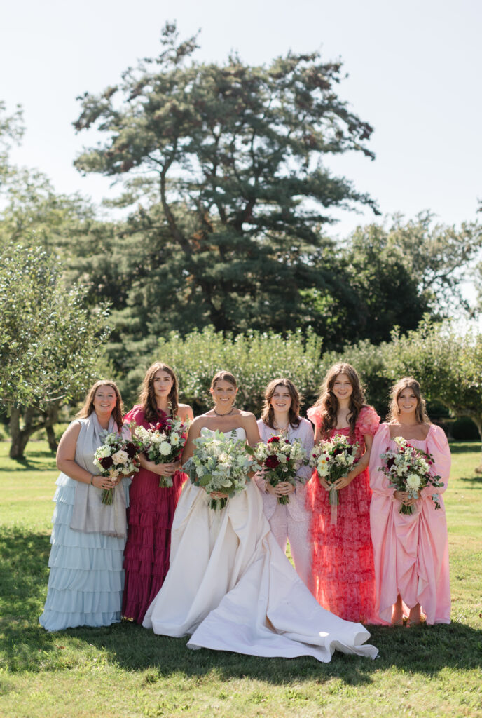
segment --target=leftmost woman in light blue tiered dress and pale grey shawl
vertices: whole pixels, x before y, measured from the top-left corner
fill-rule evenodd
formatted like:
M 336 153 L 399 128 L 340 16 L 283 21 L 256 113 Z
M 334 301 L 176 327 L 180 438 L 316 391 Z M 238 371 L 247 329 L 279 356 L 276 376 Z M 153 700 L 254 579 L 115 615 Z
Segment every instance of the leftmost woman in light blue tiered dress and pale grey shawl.
M 130 479 L 99 476 L 93 458 L 104 432 L 122 429 L 122 412 L 115 383 L 98 381 L 60 439 L 49 588 L 39 619 L 46 630 L 108 626 L 121 620 Z M 124 433 L 128 435 L 127 429 Z M 113 503 L 103 504 L 103 489 L 119 482 Z

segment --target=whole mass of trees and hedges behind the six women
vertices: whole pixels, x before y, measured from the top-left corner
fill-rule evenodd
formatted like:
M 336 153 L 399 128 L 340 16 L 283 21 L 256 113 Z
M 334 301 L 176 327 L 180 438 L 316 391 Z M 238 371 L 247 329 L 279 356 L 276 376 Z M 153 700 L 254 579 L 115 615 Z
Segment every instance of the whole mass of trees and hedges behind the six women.
M 257 414 L 273 376 L 293 378 L 308 405 L 343 358 L 382 415 L 394 378 L 414 373 L 443 411 L 480 431 L 478 338 L 436 322 L 473 312 L 462 289 L 481 226 L 438 225 L 425 212 L 328 238 L 335 208 L 378 211 L 329 171 L 336 154 L 374 157 L 371 126 L 339 97 L 341 63 L 315 52 L 203 64 L 196 49 L 197 37 L 168 24 L 158 57 L 79 98 L 75 128 L 101 140 L 75 164 L 121 183 L 110 205 L 122 218 L 14 167 L 22 111 L 0 103 L 0 402 L 12 455 L 42 426 L 55 449 L 56 422 L 93 378 L 116 378 L 133 404 L 158 358 L 196 411 L 221 367 Z

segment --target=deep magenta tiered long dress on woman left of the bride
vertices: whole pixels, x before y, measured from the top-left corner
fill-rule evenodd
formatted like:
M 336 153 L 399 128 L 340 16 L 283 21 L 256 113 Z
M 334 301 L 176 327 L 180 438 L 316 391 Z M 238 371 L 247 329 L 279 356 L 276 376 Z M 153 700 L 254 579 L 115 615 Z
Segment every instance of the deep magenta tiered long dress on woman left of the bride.
M 159 410 L 159 419 L 164 412 Z M 134 406 L 126 421 L 151 428 L 142 406 Z M 122 615 L 142 623 L 148 606 L 161 588 L 169 569 L 171 526 L 186 475 L 176 471 L 170 488 L 159 488 L 159 475 L 141 469 L 133 475 L 128 536 L 124 551 L 126 582 Z

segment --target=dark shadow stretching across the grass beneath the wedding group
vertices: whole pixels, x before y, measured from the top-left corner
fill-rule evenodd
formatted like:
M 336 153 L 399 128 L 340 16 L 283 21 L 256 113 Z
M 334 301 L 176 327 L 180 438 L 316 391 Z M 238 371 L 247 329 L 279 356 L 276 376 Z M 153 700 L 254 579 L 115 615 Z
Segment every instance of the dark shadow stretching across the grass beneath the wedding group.
M 462 623 L 420 628 L 372 627 L 380 658 L 344 656 L 331 663 L 313 658 L 256 658 L 225 651 L 189 651 L 186 638 L 154 635 L 124 621 L 109 628 L 75 628 L 47 633 L 38 623 L 47 593 L 49 537 L 19 528 L 0 534 L 0 621 L 3 665 L 9 671 L 67 670 L 84 664 L 93 653 L 126 671 L 146 671 L 146 683 L 172 674 L 209 680 L 248 677 L 272 684 L 338 677 L 345 684 L 370 683 L 375 671 L 394 666 L 431 676 L 442 668 L 468 670 L 482 666 L 482 630 Z M 62 645 L 60 645 L 62 644 Z M 63 649 L 66 649 L 63 653 Z M 67 656 L 68 654 L 68 656 Z M 97 660 L 97 658 L 95 658 Z

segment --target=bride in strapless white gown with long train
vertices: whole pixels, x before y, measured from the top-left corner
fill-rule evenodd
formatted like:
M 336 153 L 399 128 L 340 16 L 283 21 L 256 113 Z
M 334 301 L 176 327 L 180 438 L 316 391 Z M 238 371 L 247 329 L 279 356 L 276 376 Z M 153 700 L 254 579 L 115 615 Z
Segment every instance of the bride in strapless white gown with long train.
M 183 454 L 194 439 L 219 430 L 251 445 L 259 440 L 256 419 L 235 409 L 235 378 L 212 380 L 214 409 L 194 419 Z M 213 498 L 223 494 L 213 493 Z M 179 499 L 171 531 L 170 568 L 148 607 L 145 628 L 170 636 L 190 634 L 188 648 L 212 648 L 251 656 L 314 656 L 328 662 L 334 651 L 377 656 L 364 644 L 368 631 L 324 610 L 298 578 L 270 532 L 254 481 L 209 508 L 210 496 L 189 481 Z

